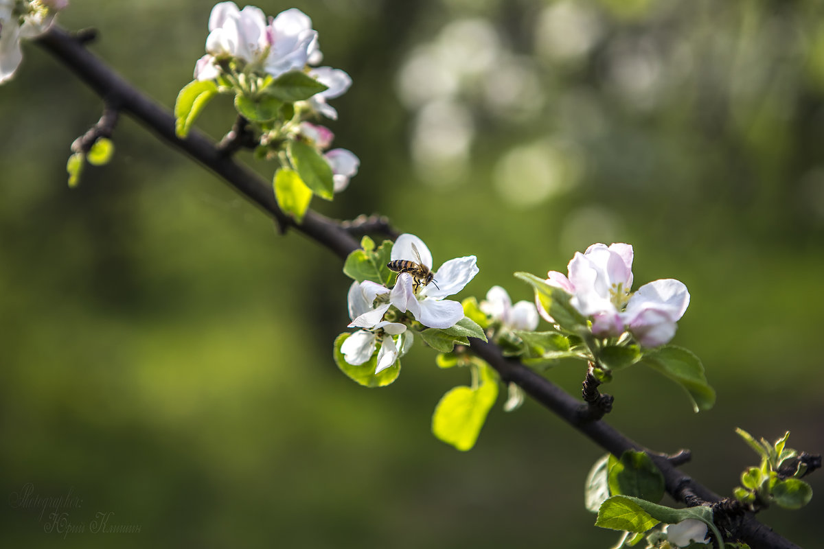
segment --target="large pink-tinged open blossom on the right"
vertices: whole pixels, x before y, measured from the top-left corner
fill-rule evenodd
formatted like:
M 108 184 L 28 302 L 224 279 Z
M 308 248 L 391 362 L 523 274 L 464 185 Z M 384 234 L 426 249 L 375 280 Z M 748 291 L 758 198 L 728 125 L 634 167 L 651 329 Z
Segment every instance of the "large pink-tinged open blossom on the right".
M 630 244 L 592 244 L 569 262 L 569 277 L 547 273 L 546 282 L 572 295 L 569 301 L 580 314 L 592 320 L 592 333 L 616 337 L 630 332 L 643 347 L 658 347 L 675 335 L 677 321 L 690 305 L 690 293 L 672 278 L 649 282 L 638 291 L 632 287 Z M 555 323 L 536 300 L 538 312 Z

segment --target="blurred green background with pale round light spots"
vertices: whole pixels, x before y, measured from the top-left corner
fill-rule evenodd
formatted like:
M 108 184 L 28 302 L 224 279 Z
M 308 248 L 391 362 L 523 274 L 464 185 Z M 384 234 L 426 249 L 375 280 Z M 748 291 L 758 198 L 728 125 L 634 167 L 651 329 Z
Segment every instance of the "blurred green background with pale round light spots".
M 684 281 L 678 345 L 718 390 L 620 375 L 612 424 L 722 494 L 756 455 L 740 426 L 821 453 L 824 7 L 812 0 L 314 0 L 325 64 L 353 77 L 335 146 L 361 171 L 326 215 L 381 212 L 436 266 L 476 254 L 461 297 L 629 242 L 636 286 Z M 73 0 L 96 54 L 171 108 L 211 2 Z M 331 359 L 341 263 L 121 119 L 110 165 L 66 185 L 101 102 L 35 44 L 0 87 L 0 514 L 5 547 L 611 547 L 583 482 L 602 454 L 534 402 L 496 405 L 468 454 L 430 415 L 468 373 L 419 345 L 366 389 Z M 229 100 L 199 126 L 221 137 Z M 248 155 L 241 155 L 247 161 Z M 269 179 L 273 168 L 256 165 Z M 550 379 L 577 393 L 580 365 Z M 820 543 L 817 496 L 762 518 Z M 85 532 L 45 532 L 47 509 Z M 91 533 L 96 513 L 140 533 Z

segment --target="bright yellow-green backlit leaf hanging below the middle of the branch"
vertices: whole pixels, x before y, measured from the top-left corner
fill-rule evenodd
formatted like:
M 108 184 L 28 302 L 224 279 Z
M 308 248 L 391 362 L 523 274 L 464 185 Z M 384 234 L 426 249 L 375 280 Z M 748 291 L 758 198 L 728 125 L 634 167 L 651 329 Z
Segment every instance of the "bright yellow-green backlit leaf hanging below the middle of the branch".
M 494 370 L 488 365 L 479 370 L 477 388 L 453 388 L 443 395 L 432 416 L 433 435 L 462 452 L 475 445 L 489 409 L 498 398 L 498 379 Z

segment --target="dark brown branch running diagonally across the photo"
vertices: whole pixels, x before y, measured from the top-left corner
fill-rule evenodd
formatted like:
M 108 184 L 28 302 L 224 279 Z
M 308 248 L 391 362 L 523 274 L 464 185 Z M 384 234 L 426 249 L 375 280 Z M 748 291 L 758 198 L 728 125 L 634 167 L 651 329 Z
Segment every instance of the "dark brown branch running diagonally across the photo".
M 272 216 L 282 230 L 297 230 L 310 240 L 330 249 L 339 258 L 346 258 L 350 252 L 358 249 L 358 240 L 353 235 L 367 231 L 394 235 L 386 219 L 380 217 L 358 218 L 352 222 L 339 223 L 310 210 L 303 222 L 296 224 L 278 207 L 272 185 L 268 180 L 261 178 L 246 166 L 237 164 L 226 151 L 217 147 L 203 133 L 193 130 L 185 139 L 177 137 L 174 116 L 142 95 L 87 51 L 83 47 L 85 39 L 82 36 L 73 36 L 58 26 L 52 26 L 37 42 L 86 82 L 107 105 L 116 105 L 119 111 L 130 114 L 157 137 L 218 174 L 225 183 Z M 682 451 L 675 456 L 667 456 L 645 449 L 601 419 L 596 419 L 589 413 L 581 413 L 582 402 L 565 393 L 548 379 L 537 375 L 520 361 L 504 357 L 500 348 L 494 344 L 472 338 L 471 349 L 492 365 L 504 382 L 519 385 L 532 398 L 541 402 L 602 449 L 617 456 L 628 449 L 647 452 L 661 470 L 667 492 L 676 500 L 694 505 L 699 501 L 710 504 L 726 501 L 676 468 L 677 464 L 684 463 L 689 458 L 688 452 Z M 597 392 L 597 389 L 595 390 Z M 793 542 L 759 523 L 751 513 L 743 514 L 736 522 L 733 536 L 747 542 L 752 549 L 799 549 Z

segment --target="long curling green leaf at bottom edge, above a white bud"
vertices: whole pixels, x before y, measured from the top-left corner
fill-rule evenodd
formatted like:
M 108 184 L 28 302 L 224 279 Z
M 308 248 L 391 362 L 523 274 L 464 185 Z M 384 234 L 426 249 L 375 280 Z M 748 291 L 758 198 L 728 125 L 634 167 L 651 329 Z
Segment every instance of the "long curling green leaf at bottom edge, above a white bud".
M 700 520 L 705 523 L 715 534 L 719 549 L 723 549 L 723 537 L 713 523 L 713 511 L 703 505 L 672 509 L 630 495 L 613 495 L 604 501 L 601 509 L 598 509 L 598 519 L 595 525 L 612 530 L 644 533 L 658 523 L 677 524 L 686 519 Z

